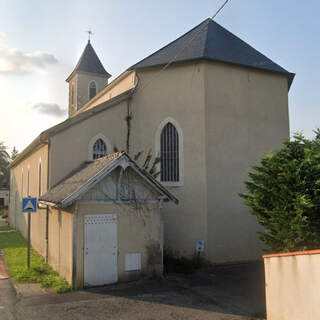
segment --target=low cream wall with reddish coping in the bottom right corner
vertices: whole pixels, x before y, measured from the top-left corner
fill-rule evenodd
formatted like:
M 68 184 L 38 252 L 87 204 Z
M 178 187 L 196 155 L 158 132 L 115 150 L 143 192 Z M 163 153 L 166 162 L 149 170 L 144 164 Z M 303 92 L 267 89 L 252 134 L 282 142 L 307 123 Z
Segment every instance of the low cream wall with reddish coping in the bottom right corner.
M 267 320 L 320 319 L 320 250 L 263 258 Z

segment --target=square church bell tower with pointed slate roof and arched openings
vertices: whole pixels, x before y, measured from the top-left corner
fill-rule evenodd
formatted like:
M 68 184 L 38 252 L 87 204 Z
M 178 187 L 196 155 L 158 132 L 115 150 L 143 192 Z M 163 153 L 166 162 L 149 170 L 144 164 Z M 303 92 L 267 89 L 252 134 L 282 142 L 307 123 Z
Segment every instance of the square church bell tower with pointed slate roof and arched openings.
M 69 83 L 69 118 L 103 89 L 110 77 L 89 38 L 76 67 L 66 79 Z

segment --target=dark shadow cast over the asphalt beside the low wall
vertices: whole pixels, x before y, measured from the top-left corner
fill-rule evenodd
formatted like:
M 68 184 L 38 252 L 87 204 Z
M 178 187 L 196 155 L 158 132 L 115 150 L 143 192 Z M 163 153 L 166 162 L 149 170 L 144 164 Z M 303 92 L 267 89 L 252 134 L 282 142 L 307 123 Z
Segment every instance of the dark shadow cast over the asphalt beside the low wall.
M 83 291 L 87 298 L 117 296 L 172 306 L 265 317 L 262 262 L 216 266 L 194 274 L 168 274 L 164 279 L 95 287 Z

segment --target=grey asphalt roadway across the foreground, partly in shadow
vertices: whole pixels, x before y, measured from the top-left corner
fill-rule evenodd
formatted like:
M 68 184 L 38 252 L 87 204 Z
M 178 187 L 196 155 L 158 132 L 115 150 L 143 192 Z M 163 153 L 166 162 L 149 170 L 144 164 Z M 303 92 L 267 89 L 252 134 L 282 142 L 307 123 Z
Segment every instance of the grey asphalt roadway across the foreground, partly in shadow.
M 235 266 L 67 294 L 38 289 L 16 295 L 12 282 L 1 280 L 0 319 L 261 319 L 262 271 L 261 265 Z

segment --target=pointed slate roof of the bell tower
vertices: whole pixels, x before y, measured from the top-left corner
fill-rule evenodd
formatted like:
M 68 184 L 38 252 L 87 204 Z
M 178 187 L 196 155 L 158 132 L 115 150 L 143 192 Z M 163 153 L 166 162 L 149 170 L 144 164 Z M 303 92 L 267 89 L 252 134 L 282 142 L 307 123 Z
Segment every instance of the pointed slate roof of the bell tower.
M 109 74 L 106 71 L 99 57 L 94 51 L 90 43 L 90 40 L 88 41 L 84 51 L 82 52 L 82 55 L 76 67 L 74 68 L 74 70 L 72 71 L 72 73 L 70 74 L 70 76 L 67 78 L 66 81 L 68 81 L 75 72 L 88 72 L 88 73 L 99 74 L 99 75 L 105 76 L 106 78 L 111 77 L 111 74 Z

